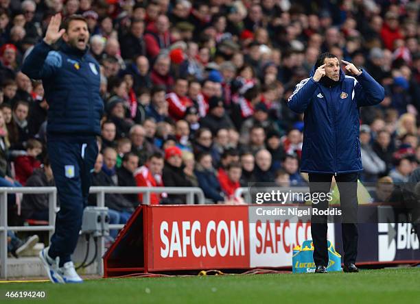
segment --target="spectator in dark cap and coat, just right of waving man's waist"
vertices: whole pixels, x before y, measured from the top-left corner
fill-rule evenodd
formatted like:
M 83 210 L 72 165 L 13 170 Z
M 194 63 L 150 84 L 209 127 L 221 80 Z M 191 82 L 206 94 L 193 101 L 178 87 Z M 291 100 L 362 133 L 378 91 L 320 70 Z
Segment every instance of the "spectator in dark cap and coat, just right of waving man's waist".
M 126 137 L 133 125 L 132 121 L 126 119 L 126 106 L 124 103 L 124 99 L 121 99 L 121 97 L 117 95 L 108 99 L 108 102 L 106 103 L 108 119 L 112 121 L 116 127 L 116 139 Z

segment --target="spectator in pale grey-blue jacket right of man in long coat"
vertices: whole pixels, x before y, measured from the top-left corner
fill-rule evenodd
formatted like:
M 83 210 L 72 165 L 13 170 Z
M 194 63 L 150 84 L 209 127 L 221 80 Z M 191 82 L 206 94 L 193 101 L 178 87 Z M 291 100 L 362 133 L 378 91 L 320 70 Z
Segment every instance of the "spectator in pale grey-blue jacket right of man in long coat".
M 375 182 L 380 175 L 386 173 L 385 162 L 372 149 L 369 125 L 360 126 L 360 153 L 363 164 L 363 171 L 360 175 L 361 181 Z

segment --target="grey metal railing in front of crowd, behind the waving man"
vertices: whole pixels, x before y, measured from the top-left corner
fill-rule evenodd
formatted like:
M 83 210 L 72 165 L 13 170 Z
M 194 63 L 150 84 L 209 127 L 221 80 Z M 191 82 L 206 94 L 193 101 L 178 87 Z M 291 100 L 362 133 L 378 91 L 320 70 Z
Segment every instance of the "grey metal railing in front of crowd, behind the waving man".
M 49 218 L 48 225 L 42 226 L 8 226 L 8 194 L 48 194 Z M 186 203 L 194 204 L 194 195 L 198 197 L 198 204 L 205 203 L 205 195 L 198 187 L 91 187 L 89 193 L 96 194 L 97 206 L 105 207 L 105 194 L 143 194 L 143 204 L 150 205 L 150 195 L 152 193 L 167 194 L 186 194 Z M 8 231 L 49 231 L 49 239 L 54 233 L 54 223 L 56 220 L 57 189 L 56 187 L 21 187 L 8 188 L 0 187 L 0 277 L 8 277 Z M 124 225 L 109 225 L 110 229 L 122 229 Z M 96 258 L 97 273 L 103 274 L 102 256 L 105 253 L 104 237 L 97 238 L 98 254 Z

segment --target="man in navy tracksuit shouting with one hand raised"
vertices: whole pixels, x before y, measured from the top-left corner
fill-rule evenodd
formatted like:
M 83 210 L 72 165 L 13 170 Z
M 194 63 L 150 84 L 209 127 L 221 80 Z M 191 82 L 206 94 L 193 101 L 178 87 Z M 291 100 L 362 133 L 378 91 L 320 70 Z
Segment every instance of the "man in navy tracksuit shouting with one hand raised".
M 75 273 L 71 254 L 87 204 L 104 105 L 100 66 L 88 53 L 86 20 L 73 15 L 63 29 L 60 24 L 60 14 L 51 18 L 44 40 L 27 55 L 22 72 L 43 80 L 49 104 L 47 150 L 60 199 L 56 230 L 40 258 L 51 281 L 73 283 L 82 282 Z M 54 51 L 51 45 L 60 38 L 62 46 Z

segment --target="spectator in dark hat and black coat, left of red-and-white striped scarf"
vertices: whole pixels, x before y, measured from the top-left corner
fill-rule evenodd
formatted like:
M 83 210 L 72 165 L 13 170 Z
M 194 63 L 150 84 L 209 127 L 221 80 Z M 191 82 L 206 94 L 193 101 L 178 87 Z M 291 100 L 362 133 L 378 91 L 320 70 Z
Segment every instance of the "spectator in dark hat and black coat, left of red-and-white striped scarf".
M 209 100 L 209 114 L 200 119 L 200 125 L 209 128 L 213 135 L 217 133 L 218 129 L 233 127 L 233 122 L 226 114 L 220 97 L 211 97 Z

